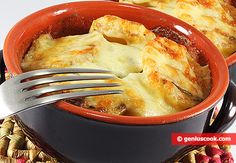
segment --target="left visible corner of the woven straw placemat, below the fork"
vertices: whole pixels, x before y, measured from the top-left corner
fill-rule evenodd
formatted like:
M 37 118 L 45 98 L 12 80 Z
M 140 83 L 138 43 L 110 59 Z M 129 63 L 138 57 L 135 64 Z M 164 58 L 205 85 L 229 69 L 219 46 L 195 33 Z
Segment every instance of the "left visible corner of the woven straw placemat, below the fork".
M 57 163 L 34 145 L 15 123 L 6 118 L 0 128 L 0 163 Z

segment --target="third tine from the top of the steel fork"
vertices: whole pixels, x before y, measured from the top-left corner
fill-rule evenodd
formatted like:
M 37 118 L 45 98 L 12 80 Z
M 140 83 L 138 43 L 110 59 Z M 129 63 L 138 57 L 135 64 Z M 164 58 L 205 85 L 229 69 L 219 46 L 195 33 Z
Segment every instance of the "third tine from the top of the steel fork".
M 40 96 L 45 93 L 52 93 L 56 91 L 81 89 L 81 88 L 99 88 L 99 87 L 116 87 L 120 86 L 117 83 L 86 83 L 86 84 L 68 84 L 68 85 L 56 85 L 48 86 L 39 89 L 30 90 L 24 93 L 24 98 L 28 99 L 35 96 Z

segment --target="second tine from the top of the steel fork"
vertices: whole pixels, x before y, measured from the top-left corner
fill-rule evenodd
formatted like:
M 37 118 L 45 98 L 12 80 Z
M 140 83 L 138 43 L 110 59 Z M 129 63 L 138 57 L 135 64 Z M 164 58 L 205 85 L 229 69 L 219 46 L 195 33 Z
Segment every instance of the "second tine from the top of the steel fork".
M 49 84 L 49 83 L 57 83 L 57 82 L 66 82 L 66 81 L 79 81 L 79 80 L 104 80 L 104 79 L 112 79 L 113 76 L 109 75 L 86 75 L 86 76 L 54 76 L 47 77 L 42 79 L 36 79 L 27 81 L 20 84 L 20 89 L 26 89 L 33 86 L 41 85 L 41 84 Z

